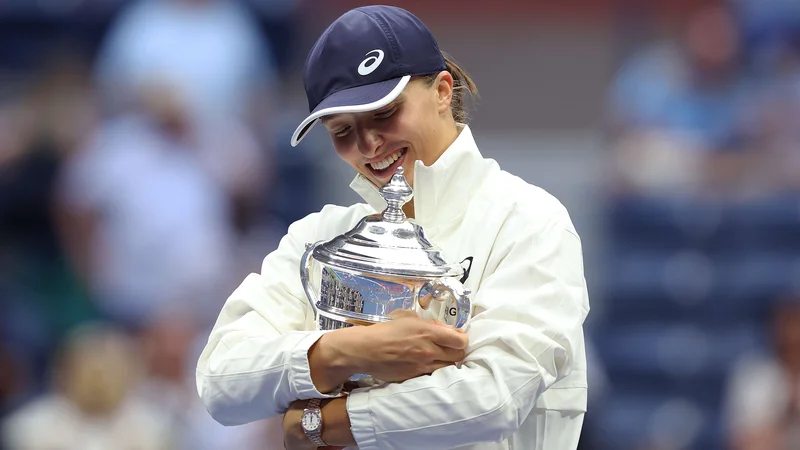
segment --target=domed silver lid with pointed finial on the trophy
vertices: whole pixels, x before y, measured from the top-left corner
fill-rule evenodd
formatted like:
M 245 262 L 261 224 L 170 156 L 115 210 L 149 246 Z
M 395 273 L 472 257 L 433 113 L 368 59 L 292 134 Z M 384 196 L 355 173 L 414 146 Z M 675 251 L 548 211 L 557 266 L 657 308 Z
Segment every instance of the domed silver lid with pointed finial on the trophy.
M 403 168 L 398 167 L 380 193 L 387 207 L 364 217 L 350 231 L 318 245 L 313 256 L 331 267 L 404 278 L 461 276 L 464 268 L 450 264 L 441 250 L 406 219 L 403 205 L 413 197 Z

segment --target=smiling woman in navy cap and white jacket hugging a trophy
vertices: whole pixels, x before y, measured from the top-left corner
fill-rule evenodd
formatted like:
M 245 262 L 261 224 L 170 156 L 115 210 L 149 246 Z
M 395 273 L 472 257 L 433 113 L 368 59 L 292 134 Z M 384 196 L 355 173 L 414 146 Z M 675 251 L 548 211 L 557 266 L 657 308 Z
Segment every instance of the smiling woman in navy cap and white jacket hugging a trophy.
M 366 203 L 292 224 L 228 299 L 198 364 L 211 414 L 225 424 L 283 414 L 289 450 L 574 449 L 589 310 L 580 240 L 556 199 L 481 156 L 463 123 L 472 81 L 419 19 L 386 6 L 338 18 L 304 81 L 311 115 L 292 144 L 322 122 Z M 377 187 L 399 166 L 414 188 L 406 214 L 445 255 L 473 258 L 466 332 L 415 317 L 315 331 L 304 244 L 382 210 Z M 342 394 L 353 373 L 397 383 Z M 304 410 L 321 412 L 321 432 L 301 424 Z

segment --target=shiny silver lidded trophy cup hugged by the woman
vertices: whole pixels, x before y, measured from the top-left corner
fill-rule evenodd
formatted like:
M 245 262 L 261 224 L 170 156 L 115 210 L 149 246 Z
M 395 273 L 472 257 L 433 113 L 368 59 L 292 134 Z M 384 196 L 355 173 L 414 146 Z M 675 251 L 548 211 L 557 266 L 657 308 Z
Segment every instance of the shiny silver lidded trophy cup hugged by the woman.
M 373 325 L 408 312 L 463 327 L 472 312 L 460 281 L 468 268 L 445 261 L 422 227 L 406 219 L 403 205 L 413 191 L 402 167 L 380 193 L 383 213 L 330 241 L 306 244 L 300 279 L 319 328 Z

